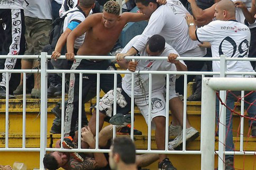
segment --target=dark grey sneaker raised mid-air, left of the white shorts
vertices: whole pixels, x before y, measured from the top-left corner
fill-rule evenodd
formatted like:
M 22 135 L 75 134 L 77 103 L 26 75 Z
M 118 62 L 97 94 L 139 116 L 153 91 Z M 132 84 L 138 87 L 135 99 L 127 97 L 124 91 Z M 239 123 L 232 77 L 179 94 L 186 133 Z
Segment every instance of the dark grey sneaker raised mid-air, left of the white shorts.
M 124 127 L 131 123 L 131 115 L 123 115 L 118 113 L 109 119 L 109 123 L 112 125 L 117 125 L 118 127 Z

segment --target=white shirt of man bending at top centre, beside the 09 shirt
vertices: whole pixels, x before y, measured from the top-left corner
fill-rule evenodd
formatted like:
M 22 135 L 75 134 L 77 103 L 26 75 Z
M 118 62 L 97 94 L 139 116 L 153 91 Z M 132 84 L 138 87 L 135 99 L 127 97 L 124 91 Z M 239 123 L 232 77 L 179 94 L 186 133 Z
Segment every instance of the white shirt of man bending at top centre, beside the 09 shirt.
M 186 13 L 188 13 L 187 9 L 178 0 L 167 1 L 166 5 L 159 6 L 150 16 L 147 27 L 133 47 L 138 51 L 142 51 L 148 38 L 154 34 L 159 34 L 180 55 L 195 49 L 198 46 L 198 42 L 190 39 L 188 35 Z M 205 54 L 206 49 L 199 53 L 198 56 L 194 56 L 203 57 Z

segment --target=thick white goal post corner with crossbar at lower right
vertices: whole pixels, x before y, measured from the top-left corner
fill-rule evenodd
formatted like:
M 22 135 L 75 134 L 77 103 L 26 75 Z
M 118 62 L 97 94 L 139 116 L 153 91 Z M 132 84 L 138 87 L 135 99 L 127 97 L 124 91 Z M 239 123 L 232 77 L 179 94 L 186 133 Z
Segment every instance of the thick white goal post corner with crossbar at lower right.
M 202 82 L 202 122 L 201 122 L 201 169 L 214 170 L 215 145 L 215 91 L 255 91 L 256 78 L 235 77 L 204 77 Z M 225 119 L 225 117 L 223 117 Z M 225 131 L 225 129 L 224 129 Z M 221 132 L 220 134 L 225 132 Z M 220 146 L 219 146 L 220 147 Z M 225 147 L 219 149 L 218 154 L 224 156 Z M 221 153 L 223 152 L 223 153 Z M 224 168 L 219 161 L 218 169 Z M 221 166 L 220 166 L 221 165 Z

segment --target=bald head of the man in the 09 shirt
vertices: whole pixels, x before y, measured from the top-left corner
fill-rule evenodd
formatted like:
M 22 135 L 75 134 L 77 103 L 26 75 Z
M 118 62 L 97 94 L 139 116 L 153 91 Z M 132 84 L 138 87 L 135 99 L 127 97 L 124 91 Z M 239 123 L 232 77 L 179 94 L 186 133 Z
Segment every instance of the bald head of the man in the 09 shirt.
M 214 17 L 217 20 L 228 21 L 235 19 L 235 5 L 231 0 L 222 0 L 215 7 Z

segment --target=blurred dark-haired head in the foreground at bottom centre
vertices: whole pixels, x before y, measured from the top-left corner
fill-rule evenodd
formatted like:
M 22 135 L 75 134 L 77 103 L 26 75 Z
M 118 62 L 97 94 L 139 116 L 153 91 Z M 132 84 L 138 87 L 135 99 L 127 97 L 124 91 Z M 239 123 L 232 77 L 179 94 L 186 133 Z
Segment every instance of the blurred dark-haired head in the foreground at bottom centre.
M 114 139 L 109 152 L 109 166 L 116 170 L 118 164 L 135 164 L 136 149 L 131 138 L 117 137 Z

